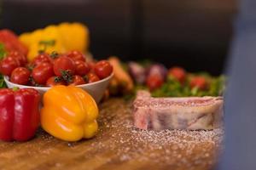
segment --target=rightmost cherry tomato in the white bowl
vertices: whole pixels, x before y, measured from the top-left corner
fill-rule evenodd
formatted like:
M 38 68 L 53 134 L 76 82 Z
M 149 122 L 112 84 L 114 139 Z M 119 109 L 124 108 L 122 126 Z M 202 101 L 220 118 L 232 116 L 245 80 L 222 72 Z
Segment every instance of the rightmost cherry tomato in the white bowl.
M 94 71 L 98 77 L 103 79 L 111 75 L 113 66 L 107 60 L 101 60 L 96 63 Z

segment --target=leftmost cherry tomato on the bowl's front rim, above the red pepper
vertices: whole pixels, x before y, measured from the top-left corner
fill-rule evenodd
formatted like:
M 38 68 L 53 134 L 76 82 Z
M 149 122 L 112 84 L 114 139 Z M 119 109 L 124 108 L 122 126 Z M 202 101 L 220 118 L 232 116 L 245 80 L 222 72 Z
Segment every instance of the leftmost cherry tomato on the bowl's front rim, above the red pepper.
M 26 85 L 29 82 L 30 71 L 25 67 L 18 67 L 12 72 L 10 82 Z

